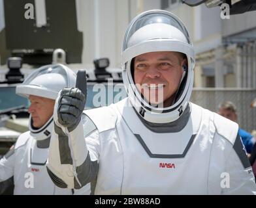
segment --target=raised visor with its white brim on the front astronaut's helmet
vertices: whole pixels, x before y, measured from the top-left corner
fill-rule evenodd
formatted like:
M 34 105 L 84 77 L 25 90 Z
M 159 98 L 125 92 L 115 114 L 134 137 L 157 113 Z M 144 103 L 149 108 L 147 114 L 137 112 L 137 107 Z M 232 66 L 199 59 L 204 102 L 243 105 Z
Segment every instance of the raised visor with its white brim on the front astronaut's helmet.
M 138 55 L 156 51 L 176 51 L 195 59 L 185 25 L 165 10 L 144 12 L 131 21 L 123 41 L 122 66 Z

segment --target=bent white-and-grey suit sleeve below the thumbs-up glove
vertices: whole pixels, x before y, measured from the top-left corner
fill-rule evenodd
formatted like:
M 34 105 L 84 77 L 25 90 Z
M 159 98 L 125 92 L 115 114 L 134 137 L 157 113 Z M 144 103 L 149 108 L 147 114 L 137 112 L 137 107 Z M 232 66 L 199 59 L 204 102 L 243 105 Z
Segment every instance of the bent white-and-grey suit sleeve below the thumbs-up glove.
M 75 189 L 95 181 L 98 147 L 99 134 L 86 115 L 70 133 L 55 123 L 47 162 L 52 181 L 58 187 Z

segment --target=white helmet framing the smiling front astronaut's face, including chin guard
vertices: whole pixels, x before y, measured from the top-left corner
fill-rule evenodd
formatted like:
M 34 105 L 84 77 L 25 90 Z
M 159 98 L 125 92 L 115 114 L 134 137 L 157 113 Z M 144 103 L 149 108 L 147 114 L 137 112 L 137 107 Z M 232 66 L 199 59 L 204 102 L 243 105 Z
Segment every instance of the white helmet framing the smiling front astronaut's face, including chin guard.
M 153 107 L 142 98 L 133 79 L 132 60 L 155 51 L 176 51 L 187 56 L 187 70 L 170 107 Z M 150 10 L 136 16 L 129 24 L 121 55 L 123 83 L 129 100 L 144 120 L 152 123 L 174 122 L 182 115 L 193 88 L 195 52 L 189 33 L 182 21 L 165 10 Z

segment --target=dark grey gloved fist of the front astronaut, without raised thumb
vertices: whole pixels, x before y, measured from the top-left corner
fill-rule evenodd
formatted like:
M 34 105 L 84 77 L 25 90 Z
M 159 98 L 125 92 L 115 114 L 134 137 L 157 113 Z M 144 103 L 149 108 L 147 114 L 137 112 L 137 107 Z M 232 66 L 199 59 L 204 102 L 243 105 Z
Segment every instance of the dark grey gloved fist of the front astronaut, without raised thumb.
M 73 131 L 81 120 L 86 105 L 86 96 L 78 88 L 63 88 L 59 94 L 57 121 Z

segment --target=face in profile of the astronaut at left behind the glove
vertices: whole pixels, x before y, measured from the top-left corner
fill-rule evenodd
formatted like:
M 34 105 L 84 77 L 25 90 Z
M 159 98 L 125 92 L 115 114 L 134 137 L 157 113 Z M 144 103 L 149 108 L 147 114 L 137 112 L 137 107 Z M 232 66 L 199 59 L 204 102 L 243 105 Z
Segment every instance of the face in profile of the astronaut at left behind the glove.
M 52 117 L 55 100 L 29 96 L 29 101 L 31 105 L 28 111 L 32 117 L 33 127 L 40 128 Z

